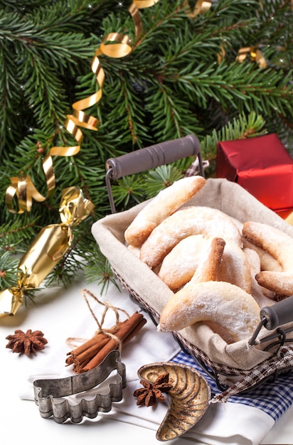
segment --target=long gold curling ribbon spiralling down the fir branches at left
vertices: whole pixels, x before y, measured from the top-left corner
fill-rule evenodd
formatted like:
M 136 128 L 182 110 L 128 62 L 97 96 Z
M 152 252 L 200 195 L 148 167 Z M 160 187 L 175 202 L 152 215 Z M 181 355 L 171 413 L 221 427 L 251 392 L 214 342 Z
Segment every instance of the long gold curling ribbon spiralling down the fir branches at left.
M 142 20 L 139 14 L 139 9 L 149 8 L 158 3 L 159 0 L 134 0 L 129 6 L 129 14 L 131 14 L 135 27 L 135 41 L 142 35 Z M 53 172 L 53 161 L 51 156 L 75 156 L 80 151 L 83 134 L 81 128 L 97 131 L 100 122 L 96 117 L 88 115 L 84 112 L 85 109 L 94 106 L 100 102 L 102 97 L 102 87 L 105 81 L 105 72 L 100 65 L 98 56 L 107 55 L 112 58 L 123 58 L 132 52 L 133 43 L 129 36 L 122 33 L 109 33 L 103 38 L 100 47 L 95 51 L 92 58 L 92 72 L 97 79 L 98 90 L 93 95 L 79 100 L 73 104 L 72 114 L 66 116 L 64 127 L 74 136 L 77 141 L 75 146 L 53 146 L 49 154 L 43 160 L 43 171 L 46 176 L 46 183 L 48 193 L 46 196 L 41 195 L 33 185 L 30 176 L 24 178 L 13 177 L 10 178 L 11 185 L 6 190 L 6 207 L 11 213 L 24 213 L 30 211 L 32 200 L 43 202 L 55 189 L 55 174 Z M 14 210 L 14 200 L 18 199 L 18 210 Z

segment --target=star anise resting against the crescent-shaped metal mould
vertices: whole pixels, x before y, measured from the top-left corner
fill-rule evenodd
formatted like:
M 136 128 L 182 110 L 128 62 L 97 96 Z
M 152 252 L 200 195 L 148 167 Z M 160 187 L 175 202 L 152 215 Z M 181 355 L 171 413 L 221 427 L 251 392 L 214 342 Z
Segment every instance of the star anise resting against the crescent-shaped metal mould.
M 146 407 L 152 407 L 156 404 L 156 401 L 164 402 L 166 398 L 162 392 L 169 392 L 173 385 L 169 383 L 169 374 L 166 372 L 159 375 L 154 383 L 150 383 L 147 380 L 140 380 L 139 382 L 143 388 L 135 390 L 133 395 L 137 397 L 137 405 L 143 405 Z

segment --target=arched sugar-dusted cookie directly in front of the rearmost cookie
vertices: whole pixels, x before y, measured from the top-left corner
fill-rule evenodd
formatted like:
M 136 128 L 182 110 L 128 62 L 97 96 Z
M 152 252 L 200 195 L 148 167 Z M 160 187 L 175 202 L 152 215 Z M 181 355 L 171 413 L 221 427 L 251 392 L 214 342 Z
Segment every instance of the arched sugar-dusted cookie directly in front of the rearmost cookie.
M 154 269 L 179 241 L 199 234 L 233 240 L 242 247 L 242 235 L 228 215 L 215 208 L 192 205 L 162 221 L 142 245 L 139 258 Z

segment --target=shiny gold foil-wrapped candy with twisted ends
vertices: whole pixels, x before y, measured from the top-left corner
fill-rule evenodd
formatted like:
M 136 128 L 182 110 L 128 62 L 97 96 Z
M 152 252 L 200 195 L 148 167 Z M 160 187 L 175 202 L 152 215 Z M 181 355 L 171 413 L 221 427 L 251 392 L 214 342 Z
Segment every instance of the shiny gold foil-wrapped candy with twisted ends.
M 68 251 L 73 227 L 94 209 L 78 187 L 65 188 L 60 202 L 60 224 L 43 227 L 18 263 L 18 283 L 0 291 L 0 318 L 14 316 L 23 303 L 24 291 L 36 289 Z

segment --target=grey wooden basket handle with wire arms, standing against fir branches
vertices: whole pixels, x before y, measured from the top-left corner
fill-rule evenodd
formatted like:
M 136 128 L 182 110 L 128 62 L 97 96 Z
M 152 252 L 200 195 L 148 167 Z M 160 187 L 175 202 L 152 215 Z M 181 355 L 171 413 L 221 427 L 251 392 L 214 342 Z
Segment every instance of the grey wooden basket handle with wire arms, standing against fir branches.
M 188 156 L 198 156 L 199 171 L 204 176 L 201 144 L 195 134 L 161 142 L 106 161 L 106 185 L 112 213 L 116 212 L 111 180 L 166 165 Z

